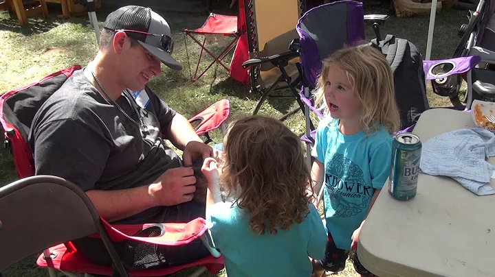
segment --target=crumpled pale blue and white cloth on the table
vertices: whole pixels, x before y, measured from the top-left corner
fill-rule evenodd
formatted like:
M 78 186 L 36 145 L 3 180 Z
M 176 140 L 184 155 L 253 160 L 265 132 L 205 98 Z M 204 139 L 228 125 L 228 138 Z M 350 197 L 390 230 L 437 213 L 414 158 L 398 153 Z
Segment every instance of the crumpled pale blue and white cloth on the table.
M 495 194 L 489 182 L 495 156 L 495 134 L 483 128 L 461 129 L 423 143 L 419 168 L 423 173 L 448 176 L 476 195 Z

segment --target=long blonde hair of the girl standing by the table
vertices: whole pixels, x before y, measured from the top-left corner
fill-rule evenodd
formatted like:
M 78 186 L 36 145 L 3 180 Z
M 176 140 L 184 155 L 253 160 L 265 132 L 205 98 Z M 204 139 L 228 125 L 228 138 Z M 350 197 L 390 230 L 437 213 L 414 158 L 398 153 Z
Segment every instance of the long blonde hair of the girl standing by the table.
M 372 46 L 344 47 L 323 60 L 316 86 L 318 108 L 328 109 L 325 86 L 331 67 L 346 71 L 349 83 L 362 104 L 361 128 L 366 134 L 382 124 L 390 134 L 400 128 L 399 108 L 395 101 L 393 73 L 384 55 Z

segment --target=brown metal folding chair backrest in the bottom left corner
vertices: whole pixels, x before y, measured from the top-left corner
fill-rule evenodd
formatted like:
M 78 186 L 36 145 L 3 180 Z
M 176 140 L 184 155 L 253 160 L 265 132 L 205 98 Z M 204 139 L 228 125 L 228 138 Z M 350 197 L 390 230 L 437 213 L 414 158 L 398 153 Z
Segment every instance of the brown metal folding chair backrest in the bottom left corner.
M 53 245 L 98 233 L 88 203 L 94 211 L 85 193 L 61 178 L 34 176 L 3 186 L 0 272 Z

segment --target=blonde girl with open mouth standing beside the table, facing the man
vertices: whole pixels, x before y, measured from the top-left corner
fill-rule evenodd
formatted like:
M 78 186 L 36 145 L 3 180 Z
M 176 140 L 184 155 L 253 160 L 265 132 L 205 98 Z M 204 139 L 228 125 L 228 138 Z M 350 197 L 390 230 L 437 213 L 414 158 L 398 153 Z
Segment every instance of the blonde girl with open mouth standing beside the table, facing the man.
M 313 189 L 324 187 L 328 230 L 325 257 L 314 276 L 339 272 L 356 250 L 362 224 L 391 167 L 392 134 L 399 130 L 393 73 L 372 46 L 345 47 L 324 60 L 316 103 L 326 117 L 316 131 Z M 315 203 L 316 204 L 316 203 Z M 351 258 L 362 276 L 373 276 Z

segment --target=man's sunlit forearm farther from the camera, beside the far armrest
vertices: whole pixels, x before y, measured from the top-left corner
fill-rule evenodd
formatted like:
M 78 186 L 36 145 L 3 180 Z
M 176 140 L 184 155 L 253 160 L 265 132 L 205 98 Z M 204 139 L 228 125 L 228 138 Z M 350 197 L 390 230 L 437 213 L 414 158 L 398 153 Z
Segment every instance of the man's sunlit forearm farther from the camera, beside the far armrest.
M 166 135 L 168 140 L 181 150 L 184 150 L 190 141 L 203 142 L 186 117 L 180 114 L 176 114 L 172 119 L 169 130 L 166 130 Z

